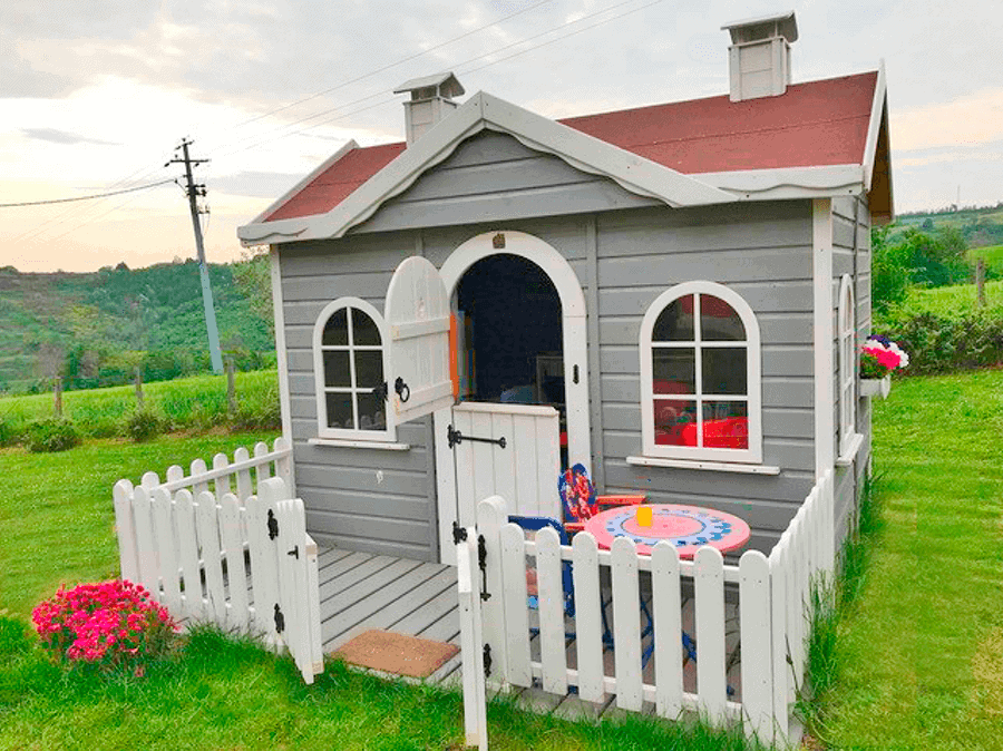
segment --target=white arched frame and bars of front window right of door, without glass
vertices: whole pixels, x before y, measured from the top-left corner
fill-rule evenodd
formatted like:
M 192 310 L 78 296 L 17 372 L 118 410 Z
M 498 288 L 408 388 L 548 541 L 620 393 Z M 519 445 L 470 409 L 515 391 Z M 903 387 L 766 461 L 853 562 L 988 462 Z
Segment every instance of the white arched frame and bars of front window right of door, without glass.
M 744 399 L 748 403 L 749 416 L 749 448 L 748 449 L 728 449 L 728 448 L 705 448 L 692 446 L 661 446 L 655 443 L 654 436 L 654 386 L 652 377 L 652 332 L 655 321 L 662 311 L 664 311 L 675 300 L 694 295 L 694 324 L 693 335 L 697 350 L 697 394 L 694 400 L 698 402 L 698 411 L 701 409 L 704 400 L 702 393 L 700 364 L 700 352 L 708 347 L 707 342 L 700 341 L 700 315 L 699 315 L 699 298 L 695 295 L 708 294 L 723 300 L 739 315 L 742 325 L 746 328 L 744 347 L 747 349 L 746 367 L 747 367 L 747 392 Z M 742 342 L 722 341 L 714 342 L 713 347 L 736 347 Z M 644 314 L 641 322 L 640 335 L 641 350 L 641 433 L 642 447 L 644 456 L 665 458 L 665 459 L 683 459 L 693 461 L 715 461 L 715 462 L 739 462 L 739 464 L 761 464 L 762 462 L 762 376 L 761 376 L 761 345 L 759 335 L 759 322 L 752 309 L 738 293 L 729 290 L 722 284 L 707 281 L 683 282 L 676 284 L 655 298 L 654 302 Z M 680 399 L 689 399 L 690 397 L 681 396 Z M 709 401 L 720 401 L 717 394 L 708 396 Z M 699 436 L 700 431 L 698 431 Z

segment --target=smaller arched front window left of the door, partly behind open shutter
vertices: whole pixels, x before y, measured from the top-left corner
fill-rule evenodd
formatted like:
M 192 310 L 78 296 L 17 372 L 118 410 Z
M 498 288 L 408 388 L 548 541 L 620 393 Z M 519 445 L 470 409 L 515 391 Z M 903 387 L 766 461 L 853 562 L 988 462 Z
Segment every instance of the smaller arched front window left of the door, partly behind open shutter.
M 320 438 L 392 440 L 386 323 L 364 300 L 329 303 L 313 326 L 313 370 Z

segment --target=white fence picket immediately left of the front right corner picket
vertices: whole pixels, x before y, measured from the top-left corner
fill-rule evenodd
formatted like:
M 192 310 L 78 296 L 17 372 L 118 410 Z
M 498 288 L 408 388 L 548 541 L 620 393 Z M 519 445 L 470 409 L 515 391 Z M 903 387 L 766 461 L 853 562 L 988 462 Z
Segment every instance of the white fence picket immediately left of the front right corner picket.
M 719 725 L 728 702 L 724 677 L 724 559 L 704 545 L 693 556 L 697 599 L 697 686 L 700 711 Z

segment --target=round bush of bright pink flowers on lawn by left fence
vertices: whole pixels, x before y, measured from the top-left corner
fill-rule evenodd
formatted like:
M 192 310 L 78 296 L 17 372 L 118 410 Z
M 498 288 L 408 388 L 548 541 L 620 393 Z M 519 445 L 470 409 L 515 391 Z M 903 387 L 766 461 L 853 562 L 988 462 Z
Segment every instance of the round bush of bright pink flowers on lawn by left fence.
M 165 654 L 178 631 L 149 592 L 124 579 L 60 587 L 31 613 L 35 628 L 57 660 L 104 670 L 145 664 Z

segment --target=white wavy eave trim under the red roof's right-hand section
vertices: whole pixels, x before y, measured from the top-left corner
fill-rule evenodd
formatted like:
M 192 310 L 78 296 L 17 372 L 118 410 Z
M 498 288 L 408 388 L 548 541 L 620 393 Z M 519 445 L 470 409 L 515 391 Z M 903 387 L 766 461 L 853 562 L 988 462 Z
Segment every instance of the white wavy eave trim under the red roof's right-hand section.
M 858 164 L 713 172 L 694 177 L 733 193 L 743 201 L 821 198 L 837 194 L 858 194 L 864 189 L 864 170 Z

